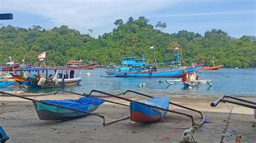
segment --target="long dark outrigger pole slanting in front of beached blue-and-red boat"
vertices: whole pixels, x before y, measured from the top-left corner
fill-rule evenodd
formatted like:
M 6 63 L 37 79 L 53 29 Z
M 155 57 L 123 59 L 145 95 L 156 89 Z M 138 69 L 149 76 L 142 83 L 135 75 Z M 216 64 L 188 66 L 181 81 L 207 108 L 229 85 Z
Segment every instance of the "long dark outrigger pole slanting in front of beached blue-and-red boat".
M 131 91 L 131 90 L 130 90 L 130 91 Z M 203 119 L 200 121 L 200 123 L 197 123 L 196 121 L 194 121 L 192 115 L 188 115 L 188 114 L 186 114 L 186 113 L 181 113 L 181 112 L 177 112 L 177 111 L 172 111 L 172 110 L 169 110 L 169 109 L 159 108 L 158 106 L 153 106 L 153 105 L 149 105 L 149 104 L 145 104 L 145 103 L 140 103 L 140 102 L 138 102 L 138 101 L 133 101 L 133 100 L 131 100 L 131 99 L 127 99 L 127 98 L 124 98 L 124 97 L 120 97 L 120 96 L 108 94 L 108 93 L 103 92 L 103 91 L 91 90 L 89 96 L 92 94 L 92 92 L 98 92 L 98 93 L 100 93 L 100 94 L 105 94 L 105 95 L 108 95 L 108 96 L 116 97 L 116 98 L 119 98 L 119 99 L 123 99 L 123 100 L 125 100 L 125 101 L 135 102 L 135 103 L 138 103 L 138 104 L 142 104 L 142 105 L 145 105 L 145 106 L 149 106 L 150 108 L 159 109 L 159 110 L 168 111 L 168 112 L 173 112 L 173 113 L 177 113 L 177 114 L 179 114 L 179 115 L 187 116 L 187 117 L 191 118 L 192 126 L 194 126 L 194 125 L 203 125 L 203 124 L 204 124 L 204 121 L 205 121 L 205 116 L 203 116 Z M 147 96 L 147 97 L 149 97 L 149 96 Z

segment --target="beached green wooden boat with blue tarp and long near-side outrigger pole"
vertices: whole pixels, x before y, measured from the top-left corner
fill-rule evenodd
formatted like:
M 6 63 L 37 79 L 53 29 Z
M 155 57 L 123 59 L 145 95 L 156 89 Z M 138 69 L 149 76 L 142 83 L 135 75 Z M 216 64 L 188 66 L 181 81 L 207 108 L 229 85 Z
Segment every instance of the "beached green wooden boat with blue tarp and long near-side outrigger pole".
M 104 103 L 102 99 L 82 97 L 77 100 L 38 101 L 36 99 L 10 94 L 8 92 L 0 91 L 0 93 L 32 101 L 37 111 L 37 115 L 41 120 L 66 120 L 85 115 L 95 115 L 103 118 L 105 123 L 104 116 L 92 113 L 100 104 Z

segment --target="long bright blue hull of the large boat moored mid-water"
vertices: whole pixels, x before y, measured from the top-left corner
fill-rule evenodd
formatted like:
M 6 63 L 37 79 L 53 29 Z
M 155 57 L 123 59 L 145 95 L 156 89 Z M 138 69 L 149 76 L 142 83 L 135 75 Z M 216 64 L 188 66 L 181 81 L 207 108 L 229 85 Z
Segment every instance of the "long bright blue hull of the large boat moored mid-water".
M 107 75 L 116 75 L 116 77 L 183 77 L 189 72 L 195 71 L 200 68 L 201 65 L 195 67 L 188 67 L 182 69 L 173 69 L 168 71 L 155 71 L 148 73 L 141 73 L 136 71 L 120 72 L 120 71 L 106 71 Z

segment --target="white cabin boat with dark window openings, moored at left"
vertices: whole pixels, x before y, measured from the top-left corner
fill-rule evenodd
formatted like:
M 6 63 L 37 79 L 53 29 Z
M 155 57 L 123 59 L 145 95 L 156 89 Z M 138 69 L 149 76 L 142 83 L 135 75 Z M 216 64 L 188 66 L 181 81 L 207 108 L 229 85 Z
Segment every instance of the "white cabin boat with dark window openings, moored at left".
M 60 86 L 77 85 L 80 81 L 81 69 L 57 67 L 53 76 L 49 77 L 46 73 L 46 76 L 41 77 L 37 85 L 41 88 L 58 88 Z

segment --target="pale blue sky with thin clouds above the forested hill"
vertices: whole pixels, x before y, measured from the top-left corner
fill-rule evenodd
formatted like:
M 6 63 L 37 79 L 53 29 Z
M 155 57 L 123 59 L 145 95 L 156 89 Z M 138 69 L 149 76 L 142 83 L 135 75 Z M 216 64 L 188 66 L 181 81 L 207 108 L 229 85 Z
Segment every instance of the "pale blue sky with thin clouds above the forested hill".
M 166 33 L 187 30 L 204 35 L 213 28 L 231 37 L 254 35 L 253 0 L 0 0 L 0 13 L 12 13 L 13 20 L 1 20 L 0 26 L 29 28 L 40 25 L 50 29 L 61 25 L 82 34 L 98 37 L 112 32 L 117 19 L 144 16 L 153 26 L 166 23 Z M 1 25 L 2 24 L 2 25 Z

